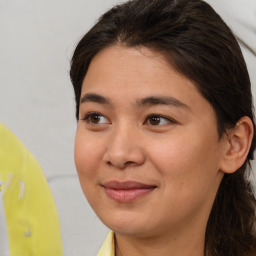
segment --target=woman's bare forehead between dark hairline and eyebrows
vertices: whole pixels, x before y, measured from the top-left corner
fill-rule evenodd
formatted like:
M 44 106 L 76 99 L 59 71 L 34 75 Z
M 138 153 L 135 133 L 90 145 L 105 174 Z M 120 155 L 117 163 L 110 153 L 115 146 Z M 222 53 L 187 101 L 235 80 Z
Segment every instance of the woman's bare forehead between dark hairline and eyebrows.
M 162 94 L 186 98 L 190 104 L 195 99 L 206 103 L 191 80 L 178 73 L 163 55 L 145 47 L 115 45 L 100 51 L 83 81 L 82 96 L 88 92 L 107 97 L 118 94 L 124 99 L 129 95 L 143 98 L 149 96 L 146 94 Z

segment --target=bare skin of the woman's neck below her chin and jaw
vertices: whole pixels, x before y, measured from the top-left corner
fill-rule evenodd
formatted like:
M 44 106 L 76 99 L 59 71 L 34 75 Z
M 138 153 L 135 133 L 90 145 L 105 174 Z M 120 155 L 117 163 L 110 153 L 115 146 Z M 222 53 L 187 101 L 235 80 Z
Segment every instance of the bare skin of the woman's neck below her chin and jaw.
M 204 256 L 208 217 L 146 238 L 115 233 L 115 256 Z

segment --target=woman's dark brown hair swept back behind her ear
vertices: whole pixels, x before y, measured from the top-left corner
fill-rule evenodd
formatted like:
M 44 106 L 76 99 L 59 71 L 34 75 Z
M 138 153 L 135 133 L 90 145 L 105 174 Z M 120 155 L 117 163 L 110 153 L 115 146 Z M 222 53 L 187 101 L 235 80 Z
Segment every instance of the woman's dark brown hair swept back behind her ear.
M 81 87 L 93 57 L 110 45 L 160 52 L 213 106 L 219 136 L 242 116 L 254 124 L 251 85 L 240 47 L 201 0 L 133 0 L 106 12 L 78 43 L 70 77 L 79 118 Z M 255 197 L 248 181 L 255 135 L 243 166 L 225 174 L 206 229 L 205 256 L 256 255 Z

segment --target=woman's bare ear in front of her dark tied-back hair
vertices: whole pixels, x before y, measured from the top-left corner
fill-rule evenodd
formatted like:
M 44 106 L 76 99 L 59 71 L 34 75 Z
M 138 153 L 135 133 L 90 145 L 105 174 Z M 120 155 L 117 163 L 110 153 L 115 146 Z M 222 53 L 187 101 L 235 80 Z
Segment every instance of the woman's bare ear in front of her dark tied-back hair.
M 253 124 L 248 116 L 242 117 L 235 127 L 227 131 L 225 152 L 220 163 L 224 173 L 237 171 L 245 162 L 253 138 Z

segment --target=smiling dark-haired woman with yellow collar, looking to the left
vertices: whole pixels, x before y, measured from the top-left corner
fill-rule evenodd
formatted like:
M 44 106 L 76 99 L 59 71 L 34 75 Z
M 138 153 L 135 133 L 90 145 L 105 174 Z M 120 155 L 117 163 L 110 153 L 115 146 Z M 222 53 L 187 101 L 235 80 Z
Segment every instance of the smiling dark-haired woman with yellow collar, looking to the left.
M 208 4 L 112 8 L 79 42 L 70 75 L 80 183 L 113 230 L 104 255 L 256 255 L 250 79 Z

